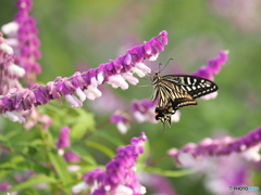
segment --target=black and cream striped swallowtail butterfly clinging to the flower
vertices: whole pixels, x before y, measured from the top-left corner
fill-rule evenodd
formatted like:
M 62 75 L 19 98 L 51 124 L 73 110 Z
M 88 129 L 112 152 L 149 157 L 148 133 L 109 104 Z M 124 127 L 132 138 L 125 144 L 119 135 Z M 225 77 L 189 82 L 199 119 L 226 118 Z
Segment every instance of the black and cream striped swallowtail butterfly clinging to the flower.
M 152 78 L 153 93 L 151 101 L 159 100 L 156 107 L 156 119 L 169 122 L 171 116 L 184 106 L 197 105 L 195 99 L 212 93 L 219 87 L 211 80 L 188 75 L 165 75 L 156 73 Z

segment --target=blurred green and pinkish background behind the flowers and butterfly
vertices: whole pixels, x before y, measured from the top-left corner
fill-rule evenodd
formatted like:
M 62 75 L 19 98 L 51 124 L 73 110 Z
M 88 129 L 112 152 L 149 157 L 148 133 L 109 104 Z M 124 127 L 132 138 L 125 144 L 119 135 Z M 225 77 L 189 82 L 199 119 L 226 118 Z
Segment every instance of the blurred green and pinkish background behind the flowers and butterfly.
M 14 0 L 1 0 L 0 25 L 13 20 L 16 13 L 14 3 Z M 229 51 L 227 64 L 215 76 L 220 87 L 217 98 L 199 100 L 198 106 L 183 108 L 181 120 L 172 128 L 166 127 L 165 133 L 160 122 L 132 122 L 124 135 L 111 123 L 99 130 L 126 144 L 130 138 L 146 132 L 152 159 L 164 155 L 171 147 L 181 148 L 189 142 L 198 143 L 216 134 L 243 136 L 260 126 L 259 0 L 45 0 L 34 2 L 32 15 L 37 20 L 41 40 L 42 74 L 38 76 L 39 83 L 47 83 L 58 76 L 71 77 L 76 70 L 98 67 L 162 30 L 169 32 L 169 44 L 158 61 L 148 65 L 157 72 L 159 63 L 165 64 L 173 58 L 163 75 L 194 73 L 208 60 L 216 57 L 220 50 Z M 138 86 L 150 84 L 149 78 L 139 80 Z M 126 91 L 112 89 L 109 84 L 102 88 L 117 100 L 115 107 L 121 109 L 128 108 L 133 100 L 149 99 L 152 93 L 150 86 L 129 86 Z M 99 104 L 98 100 L 86 101 L 84 106 L 84 109 L 94 113 L 97 126 L 107 121 L 114 109 L 104 109 Z M 5 120 L 2 122 L 4 128 L 21 127 Z M 89 139 L 101 141 L 96 132 Z M 107 160 L 101 158 L 100 162 L 104 165 Z M 154 167 L 178 169 L 171 158 L 160 160 Z M 167 180 L 176 194 L 214 194 L 206 187 L 204 176 Z M 260 181 L 260 177 L 254 176 L 252 185 L 261 186 Z

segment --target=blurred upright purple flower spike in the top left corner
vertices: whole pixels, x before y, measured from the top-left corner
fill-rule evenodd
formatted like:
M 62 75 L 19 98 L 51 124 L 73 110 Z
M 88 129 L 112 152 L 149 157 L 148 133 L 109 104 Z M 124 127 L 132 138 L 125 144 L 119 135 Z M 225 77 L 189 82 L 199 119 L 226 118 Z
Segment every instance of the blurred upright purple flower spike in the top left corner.
M 15 63 L 25 69 L 27 79 L 36 81 L 36 74 L 41 73 L 41 67 L 37 63 L 41 53 L 36 21 L 29 15 L 32 5 L 32 0 L 17 0 L 18 12 L 15 20 L 4 25 L 2 31 L 9 37 L 8 43 L 15 51 Z

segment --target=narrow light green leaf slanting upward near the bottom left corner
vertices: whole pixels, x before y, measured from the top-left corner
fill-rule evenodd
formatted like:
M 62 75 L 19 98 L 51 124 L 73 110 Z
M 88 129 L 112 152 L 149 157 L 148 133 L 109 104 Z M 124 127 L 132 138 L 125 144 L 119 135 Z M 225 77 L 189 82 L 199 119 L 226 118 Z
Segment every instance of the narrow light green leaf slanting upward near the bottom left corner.
M 36 174 L 35 177 L 32 177 L 29 180 L 23 183 L 16 184 L 12 188 L 10 188 L 8 192 L 21 191 L 23 188 L 28 188 L 40 183 L 55 183 L 55 182 L 58 181 L 54 178 L 47 177 L 45 174 Z

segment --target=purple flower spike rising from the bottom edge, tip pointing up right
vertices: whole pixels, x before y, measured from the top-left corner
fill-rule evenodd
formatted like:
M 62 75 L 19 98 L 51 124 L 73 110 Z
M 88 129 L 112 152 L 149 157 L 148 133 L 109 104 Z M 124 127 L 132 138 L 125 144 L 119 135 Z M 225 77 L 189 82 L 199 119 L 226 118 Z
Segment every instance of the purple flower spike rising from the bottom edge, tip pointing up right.
M 91 187 L 91 195 L 140 195 L 146 193 L 137 180 L 136 160 L 144 153 L 142 142 L 146 141 L 145 133 L 140 138 L 133 138 L 132 143 L 125 147 L 117 148 L 117 155 L 107 164 L 105 170 L 97 168 L 89 171 L 84 179 Z

